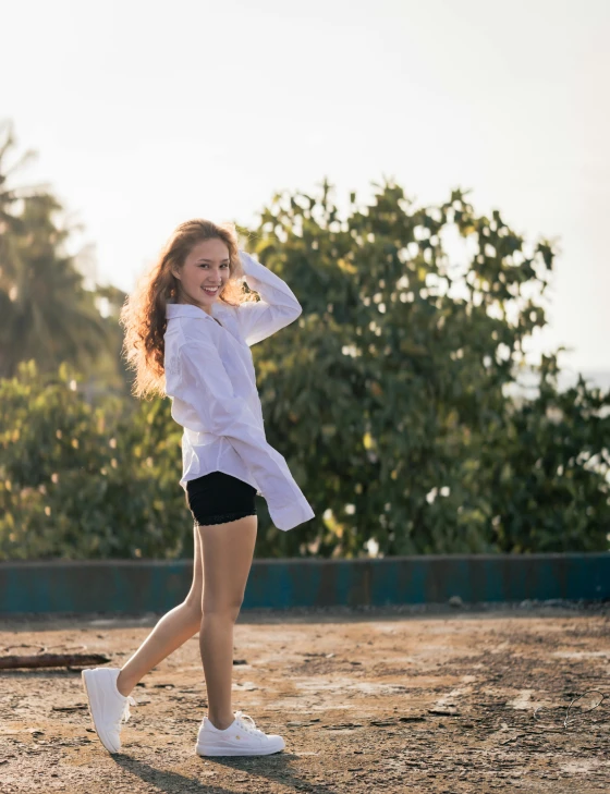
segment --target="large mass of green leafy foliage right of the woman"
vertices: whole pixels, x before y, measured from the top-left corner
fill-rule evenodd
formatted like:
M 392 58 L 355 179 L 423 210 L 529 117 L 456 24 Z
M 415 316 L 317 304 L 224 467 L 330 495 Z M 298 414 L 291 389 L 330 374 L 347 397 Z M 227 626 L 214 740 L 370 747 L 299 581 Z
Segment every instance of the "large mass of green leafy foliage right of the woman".
M 355 557 L 371 537 L 382 554 L 607 549 L 610 395 L 583 382 L 568 412 L 573 395 L 548 379 L 521 410 L 508 394 L 546 323 L 552 243 L 477 216 L 459 190 L 412 208 L 400 186 L 376 186 L 345 219 L 326 181 L 317 197 L 278 194 L 248 235 L 303 305 L 253 354 L 268 437 L 318 512 L 272 529 L 266 550 Z M 469 246 L 461 269 L 451 232 Z M 552 401 L 566 414 L 551 432 Z M 554 467 L 530 476 L 542 451 Z M 518 482 L 503 487 L 508 461 Z M 550 504 L 560 493 L 570 510 Z

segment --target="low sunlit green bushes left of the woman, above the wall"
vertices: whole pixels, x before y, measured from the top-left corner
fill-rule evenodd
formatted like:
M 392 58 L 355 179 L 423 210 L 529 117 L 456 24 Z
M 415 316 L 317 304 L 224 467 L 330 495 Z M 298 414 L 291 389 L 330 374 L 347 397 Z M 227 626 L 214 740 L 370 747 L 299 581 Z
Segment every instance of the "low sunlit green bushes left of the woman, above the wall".
M 95 407 L 66 364 L 0 380 L 0 559 L 192 553 L 181 428 L 167 401 Z

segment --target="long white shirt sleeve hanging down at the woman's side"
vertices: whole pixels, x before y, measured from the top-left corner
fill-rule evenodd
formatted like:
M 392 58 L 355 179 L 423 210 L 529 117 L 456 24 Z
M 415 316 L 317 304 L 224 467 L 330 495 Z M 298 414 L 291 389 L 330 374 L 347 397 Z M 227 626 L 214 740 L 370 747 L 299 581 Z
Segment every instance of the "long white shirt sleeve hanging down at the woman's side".
M 272 518 L 283 522 L 304 497 L 284 457 L 265 437 L 260 422 L 233 384 L 215 344 L 190 341 L 180 349 L 181 376 L 178 395 L 191 407 L 185 426 L 224 437 L 244 460 L 267 500 Z M 175 390 L 174 390 L 175 393 Z M 308 512 L 303 521 L 314 513 Z

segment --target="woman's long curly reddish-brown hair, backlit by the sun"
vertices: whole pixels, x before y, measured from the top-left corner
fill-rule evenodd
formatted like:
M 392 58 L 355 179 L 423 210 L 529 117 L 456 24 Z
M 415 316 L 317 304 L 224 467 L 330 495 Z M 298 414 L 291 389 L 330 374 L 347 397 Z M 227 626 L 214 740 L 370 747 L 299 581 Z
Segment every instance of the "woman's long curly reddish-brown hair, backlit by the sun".
M 175 297 L 179 280 L 172 268 L 181 269 L 193 247 L 205 240 L 222 240 L 229 248 L 229 280 L 218 300 L 230 306 L 256 301 L 245 293 L 244 276 L 235 224 L 215 223 L 195 218 L 178 225 L 162 246 L 154 266 L 137 280 L 121 308 L 119 322 L 124 328 L 121 353 L 127 369 L 135 371 L 132 394 L 138 399 L 166 396 L 164 333 L 166 307 Z

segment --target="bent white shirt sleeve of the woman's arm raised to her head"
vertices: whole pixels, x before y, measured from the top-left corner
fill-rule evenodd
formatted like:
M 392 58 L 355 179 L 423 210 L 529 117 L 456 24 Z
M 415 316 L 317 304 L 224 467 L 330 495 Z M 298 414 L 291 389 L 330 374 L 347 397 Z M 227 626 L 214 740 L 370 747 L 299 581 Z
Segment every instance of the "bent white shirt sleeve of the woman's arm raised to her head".
M 285 328 L 301 315 L 303 308 L 290 286 L 280 277 L 240 251 L 245 282 L 260 295 L 260 301 L 237 307 L 240 331 L 248 346 Z

